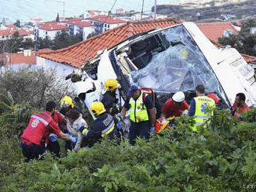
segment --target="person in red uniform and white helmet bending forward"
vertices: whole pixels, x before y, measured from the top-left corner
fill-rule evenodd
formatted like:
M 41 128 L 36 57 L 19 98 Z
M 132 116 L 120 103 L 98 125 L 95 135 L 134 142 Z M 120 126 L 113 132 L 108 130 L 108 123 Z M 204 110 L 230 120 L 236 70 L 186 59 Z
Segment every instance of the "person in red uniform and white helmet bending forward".
M 185 94 L 182 91 L 178 91 L 165 102 L 161 117 L 180 117 L 185 110 L 189 110 L 189 105 L 185 101 Z

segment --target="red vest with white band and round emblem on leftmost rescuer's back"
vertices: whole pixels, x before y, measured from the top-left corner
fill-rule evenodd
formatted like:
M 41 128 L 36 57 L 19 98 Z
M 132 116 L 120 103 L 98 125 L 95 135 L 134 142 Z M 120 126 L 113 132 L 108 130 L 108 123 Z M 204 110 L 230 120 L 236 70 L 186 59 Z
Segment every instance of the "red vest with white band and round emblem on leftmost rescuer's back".
M 21 136 L 22 139 L 39 146 L 51 121 L 54 120 L 47 111 L 31 115 L 29 125 Z

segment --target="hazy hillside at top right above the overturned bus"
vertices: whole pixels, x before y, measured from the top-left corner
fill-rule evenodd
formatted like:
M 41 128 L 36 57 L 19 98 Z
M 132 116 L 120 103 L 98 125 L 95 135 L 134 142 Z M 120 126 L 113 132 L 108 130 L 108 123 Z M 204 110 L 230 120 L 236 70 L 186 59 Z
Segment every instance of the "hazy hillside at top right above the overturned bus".
M 223 19 L 222 14 L 232 15 L 231 19 L 245 19 L 256 15 L 255 7 L 254 0 L 185 0 L 157 5 L 157 14 L 187 21 Z

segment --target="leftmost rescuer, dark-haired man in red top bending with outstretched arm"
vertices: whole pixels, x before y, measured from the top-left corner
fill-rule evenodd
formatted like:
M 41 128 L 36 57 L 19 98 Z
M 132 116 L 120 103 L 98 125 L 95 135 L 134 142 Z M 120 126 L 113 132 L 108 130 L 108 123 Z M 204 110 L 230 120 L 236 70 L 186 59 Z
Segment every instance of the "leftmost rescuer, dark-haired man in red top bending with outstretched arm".
M 26 157 L 24 162 L 29 162 L 30 159 L 40 159 L 40 156 L 42 156 L 46 150 L 44 142 L 50 135 L 50 132 L 53 132 L 61 139 L 76 142 L 76 138 L 65 135 L 61 132 L 57 123 L 54 122 L 51 115 L 54 113 L 55 108 L 56 103 L 49 101 L 46 105 L 46 111 L 31 115 L 29 125 L 21 136 L 22 142 L 20 146 L 23 155 Z

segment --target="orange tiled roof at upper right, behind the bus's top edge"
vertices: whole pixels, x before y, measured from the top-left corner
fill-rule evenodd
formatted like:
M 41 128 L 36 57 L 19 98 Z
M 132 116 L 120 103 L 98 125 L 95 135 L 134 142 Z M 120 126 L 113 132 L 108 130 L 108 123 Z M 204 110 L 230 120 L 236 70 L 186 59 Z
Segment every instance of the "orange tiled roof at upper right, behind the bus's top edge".
M 216 43 L 218 42 L 219 37 L 223 37 L 224 31 L 227 29 L 233 30 L 234 34 L 238 33 L 231 22 L 205 22 L 196 23 L 196 25 L 208 39 Z

